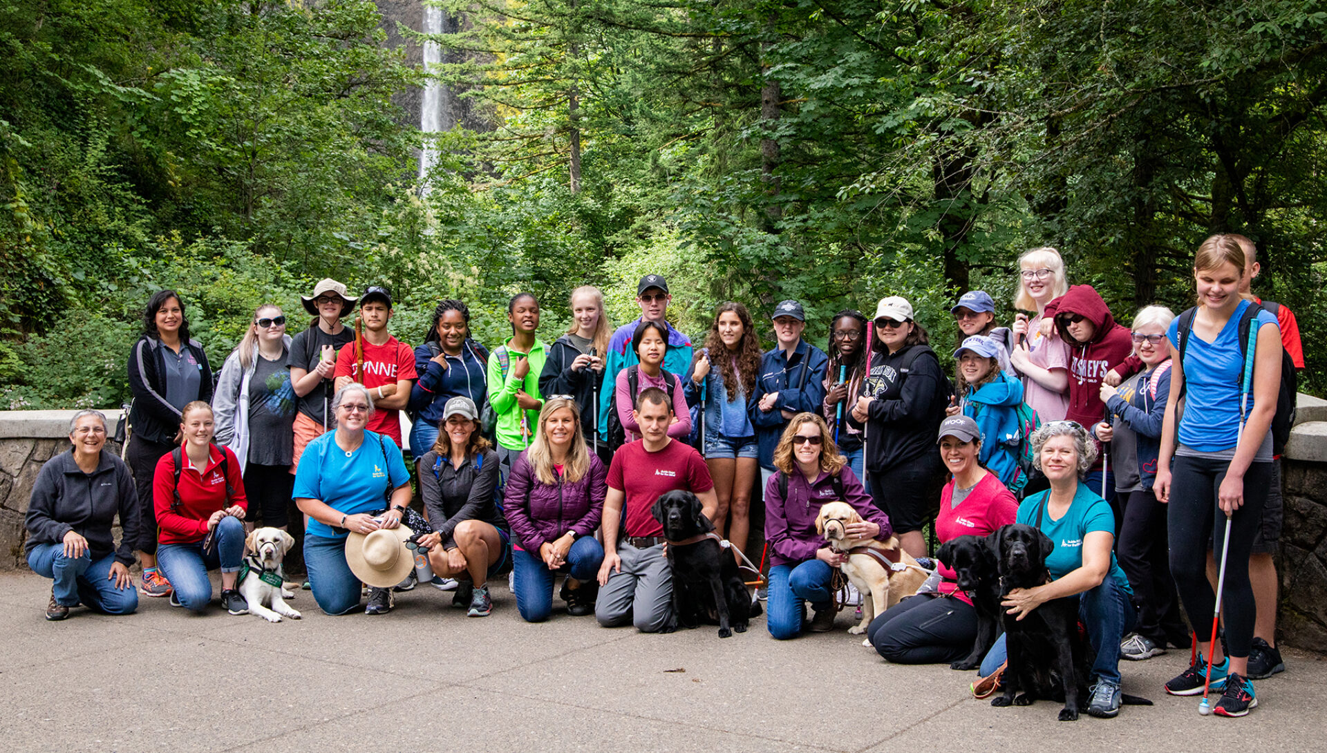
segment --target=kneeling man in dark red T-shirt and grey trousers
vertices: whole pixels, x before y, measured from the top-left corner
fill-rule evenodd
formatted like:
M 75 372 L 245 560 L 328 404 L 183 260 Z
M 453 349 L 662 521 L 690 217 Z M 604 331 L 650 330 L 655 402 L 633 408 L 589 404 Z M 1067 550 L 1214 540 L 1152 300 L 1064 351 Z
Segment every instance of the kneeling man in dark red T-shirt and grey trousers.
M 669 437 L 674 415 L 664 390 L 641 390 L 632 415 L 641 439 L 618 448 L 608 467 L 604 565 L 598 569 L 602 587 L 594 618 L 604 627 L 630 619 L 641 632 L 658 632 L 673 622 L 673 571 L 664 557 L 664 526 L 650 508 L 667 492 L 691 492 L 713 521 L 719 498 L 701 453 Z

